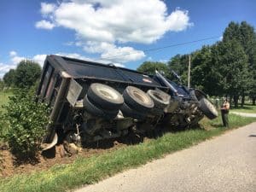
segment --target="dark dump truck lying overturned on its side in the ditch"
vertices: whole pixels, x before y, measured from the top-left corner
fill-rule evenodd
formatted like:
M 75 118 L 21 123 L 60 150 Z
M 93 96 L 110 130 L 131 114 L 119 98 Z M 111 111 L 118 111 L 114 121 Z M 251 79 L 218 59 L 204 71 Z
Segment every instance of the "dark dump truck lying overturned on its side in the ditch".
M 201 90 L 175 84 L 158 71 L 149 76 L 58 55 L 46 57 L 37 95 L 52 108 L 44 149 L 58 140 L 92 143 L 218 116 Z

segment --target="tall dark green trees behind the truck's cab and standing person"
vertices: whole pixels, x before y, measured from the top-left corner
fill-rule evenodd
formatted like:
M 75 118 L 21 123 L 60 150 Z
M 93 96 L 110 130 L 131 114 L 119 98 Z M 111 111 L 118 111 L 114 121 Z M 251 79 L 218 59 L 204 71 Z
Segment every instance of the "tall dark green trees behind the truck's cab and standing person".
M 173 70 L 187 84 L 188 63 L 191 56 L 191 85 L 210 96 L 226 96 L 235 108 L 241 98 L 250 96 L 256 100 L 256 32 L 246 21 L 230 22 L 223 39 L 212 45 L 203 46 L 187 55 L 175 55 L 165 63 L 145 61 L 137 68 L 143 73 L 154 73 L 158 68 L 166 77 L 174 79 Z

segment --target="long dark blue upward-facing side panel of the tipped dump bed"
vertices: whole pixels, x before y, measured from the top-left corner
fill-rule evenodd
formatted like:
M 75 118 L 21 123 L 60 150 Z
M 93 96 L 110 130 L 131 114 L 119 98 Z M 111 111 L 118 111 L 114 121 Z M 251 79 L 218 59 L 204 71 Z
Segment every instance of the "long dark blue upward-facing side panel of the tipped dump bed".
M 44 71 L 48 65 L 52 65 L 55 70 L 67 72 L 73 79 L 96 79 L 161 87 L 158 82 L 148 77 L 148 75 L 123 67 L 115 67 L 112 64 L 106 65 L 94 61 L 49 55 L 44 63 Z

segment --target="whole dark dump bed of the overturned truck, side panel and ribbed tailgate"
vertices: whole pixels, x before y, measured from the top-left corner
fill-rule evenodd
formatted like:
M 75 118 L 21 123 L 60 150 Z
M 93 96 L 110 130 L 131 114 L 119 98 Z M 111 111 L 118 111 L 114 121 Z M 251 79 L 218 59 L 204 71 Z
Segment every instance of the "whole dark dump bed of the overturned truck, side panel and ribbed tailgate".
M 54 104 L 54 97 L 61 85 L 63 74 L 67 76 L 68 79 L 73 79 L 82 86 L 83 89 L 81 94 L 79 94 L 79 99 L 85 95 L 88 86 L 93 82 L 123 88 L 127 85 L 134 85 L 143 90 L 159 88 L 168 91 L 168 88 L 162 86 L 157 80 L 134 70 L 94 61 L 83 61 L 59 55 L 48 55 L 44 61 L 43 73 L 38 86 L 37 95 L 40 99 Z M 68 84 L 66 89 L 69 89 Z M 76 88 L 71 87 L 71 89 Z

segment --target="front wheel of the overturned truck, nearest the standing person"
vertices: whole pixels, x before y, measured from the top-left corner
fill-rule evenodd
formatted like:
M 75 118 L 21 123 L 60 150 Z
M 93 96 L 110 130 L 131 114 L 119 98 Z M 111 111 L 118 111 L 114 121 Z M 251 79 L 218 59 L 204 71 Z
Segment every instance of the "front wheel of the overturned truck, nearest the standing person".
M 199 108 L 208 119 L 215 119 L 218 117 L 218 111 L 207 98 L 201 98 Z

